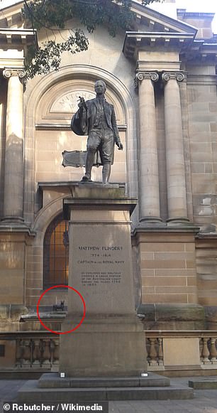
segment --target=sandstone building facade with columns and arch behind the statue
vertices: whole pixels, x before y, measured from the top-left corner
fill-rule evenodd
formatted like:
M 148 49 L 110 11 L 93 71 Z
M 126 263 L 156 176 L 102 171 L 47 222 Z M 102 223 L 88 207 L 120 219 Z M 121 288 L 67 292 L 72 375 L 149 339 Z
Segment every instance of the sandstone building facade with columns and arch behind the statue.
M 171 18 L 133 1 L 134 31 L 111 38 L 97 28 L 89 50 L 65 53 L 58 72 L 25 84 L 23 60 L 35 33 L 23 25 L 22 6 L 0 11 L 0 369 L 57 364 L 58 340 L 44 338 L 35 308 L 46 288 L 67 285 L 62 200 L 84 168 L 64 168 L 62 152 L 85 151 L 70 119 L 79 96 L 93 98 L 101 79 L 124 145 L 111 183 L 125 184 L 126 195 L 138 199 L 133 274 L 150 369 L 210 372 L 217 362 L 213 14 L 179 9 Z M 49 36 L 40 31 L 38 43 Z M 101 180 L 101 168 L 93 178 Z M 52 327 L 61 320 L 49 311 L 62 299 L 66 304 L 65 290 L 55 289 L 43 302 Z

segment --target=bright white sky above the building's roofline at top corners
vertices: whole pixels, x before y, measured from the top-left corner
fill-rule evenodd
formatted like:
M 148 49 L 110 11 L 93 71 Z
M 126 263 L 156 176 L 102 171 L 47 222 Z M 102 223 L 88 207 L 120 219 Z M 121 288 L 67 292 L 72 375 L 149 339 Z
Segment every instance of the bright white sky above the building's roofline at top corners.
M 19 0 L 0 0 L 0 9 Z M 139 1 L 139 0 L 138 0 Z M 176 0 L 176 4 L 152 4 L 153 9 L 158 9 L 162 14 L 172 14 L 176 9 L 187 9 L 187 11 L 197 11 L 201 13 L 216 13 L 213 19 L 213 33 L 217 34 L 217 0 Z M 169 11 L 171 9 L 171 12 Z

